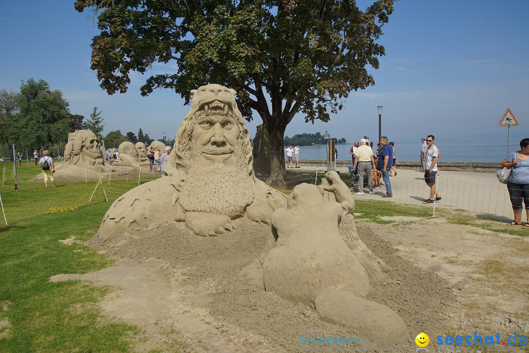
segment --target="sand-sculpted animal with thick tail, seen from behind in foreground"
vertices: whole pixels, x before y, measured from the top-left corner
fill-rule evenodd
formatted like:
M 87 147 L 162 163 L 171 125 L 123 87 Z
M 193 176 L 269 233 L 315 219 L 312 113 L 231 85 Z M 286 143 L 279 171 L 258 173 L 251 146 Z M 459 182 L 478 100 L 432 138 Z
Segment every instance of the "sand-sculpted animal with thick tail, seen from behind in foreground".
M 361 337 L 406 337 L 402 318 L 370 301 L 370 279 L 381 279 L 390 269 L 351 232 L 349 188 L 334 171 L 325 177 L 323 188 L 297 185 L 287 208 L 273 214 L 276 243 L 260 259 L 266 291 L 315 307 L 323 320 L 344 324 Z

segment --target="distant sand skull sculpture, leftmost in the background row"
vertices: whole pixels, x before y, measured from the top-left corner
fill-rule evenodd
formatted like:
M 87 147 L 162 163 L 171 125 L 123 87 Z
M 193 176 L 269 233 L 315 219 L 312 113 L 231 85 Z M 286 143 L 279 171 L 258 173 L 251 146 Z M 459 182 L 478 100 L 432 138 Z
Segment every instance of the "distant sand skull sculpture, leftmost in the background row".
M 66 164 L 69 165 L 93 166 L 97 171 L 101 171 L 104 164 L 101 143 L 90 130 L 77 130 L 68 133 L 64 155 Z

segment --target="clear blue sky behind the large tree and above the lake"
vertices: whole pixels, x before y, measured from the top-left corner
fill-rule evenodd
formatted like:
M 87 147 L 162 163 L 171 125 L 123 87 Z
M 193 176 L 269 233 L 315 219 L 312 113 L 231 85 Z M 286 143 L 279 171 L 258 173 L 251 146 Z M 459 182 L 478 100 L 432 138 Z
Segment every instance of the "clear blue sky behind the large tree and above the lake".
M 369 1 L 358 1 L 365 8 Z M 286 135 L 324 132 L 354 141 L 382 134 L 390 140 L 436 140 L 457 135 L 504 133 L 498 123 L 507 108 L 519 122 L 511 135 L 529 131 L 529 13 L 527 0 L 400 0 L 379 43 L 386 56 L 370 70 L 376 85 L 351 93 L 329 123 L 304 122 L 298 114 Z M 73 1 L 4 2 L 0 5 L 0 88 L 18 90 L 21 81 L 44 79 L 59 89 L 73 114 L 88 117 L 97 106 L 105 131 L 120 129 L 174 136 L 189 107 L 179 95 L 156 90 L 142 97 L 146 76 L 132 75 L 126 94 L 107 95 L 90 70 L 90 43 L 98 33 L 88 13 Z M 174 70 L 157 65 L 152 73 Z M 248 123 L 250 135 L 259 116 Z M 524 136 L 525 137 L 525 136 Z

